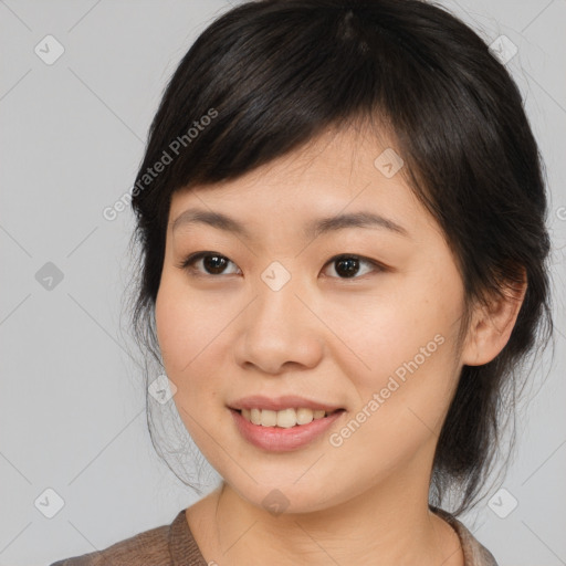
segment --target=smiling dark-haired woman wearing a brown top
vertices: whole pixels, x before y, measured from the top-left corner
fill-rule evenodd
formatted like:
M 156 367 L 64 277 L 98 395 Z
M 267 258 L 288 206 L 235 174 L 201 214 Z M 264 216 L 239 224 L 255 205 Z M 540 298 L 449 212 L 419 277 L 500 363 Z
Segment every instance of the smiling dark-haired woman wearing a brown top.
M 537 146 L 485 43 L 417 0 L 241 4 L 132 196 L 134 325 L 222 483 L 56 565 L 495 565 L 457 515 L 552 321 Z

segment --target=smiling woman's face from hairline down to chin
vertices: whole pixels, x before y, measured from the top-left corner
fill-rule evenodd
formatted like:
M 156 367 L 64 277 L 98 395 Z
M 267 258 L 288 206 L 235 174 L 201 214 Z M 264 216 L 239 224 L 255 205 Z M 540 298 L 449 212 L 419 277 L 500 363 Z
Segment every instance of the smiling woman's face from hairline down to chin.
M 376 161 L 386 147 L 326 134 L 172 197 L 156 303 L 165 368 L 199 449 L 258 506 L 270 493 L 306 512 L 386 485 L 428 490 L 462 367 L 463 285 L 402 169 Z M 360 213 L 374 221 L 356 223 Z M 332 221 L 314 232 L 322 219 Z M 285 396 L 303 410 L 275 413 L 277 427 L 231 409 L 273 409 Z M 315 418 L 313 403 L 340 410 Z M 295 416 L 313 420 L 291 426 Z

